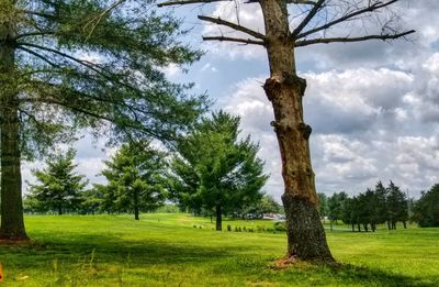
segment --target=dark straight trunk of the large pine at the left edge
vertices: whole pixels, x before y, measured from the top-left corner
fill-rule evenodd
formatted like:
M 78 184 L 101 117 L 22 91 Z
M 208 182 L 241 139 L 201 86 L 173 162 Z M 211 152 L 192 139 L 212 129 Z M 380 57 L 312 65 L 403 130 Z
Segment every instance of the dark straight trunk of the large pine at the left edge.
M 12 4 L 12 3 L 11 3 Z M 23 220 L 20 170 L 20 122 L 18 115 L 14 26 L 0 25 L 0 154 L 1 227 L 0 240 L 27 240 Z

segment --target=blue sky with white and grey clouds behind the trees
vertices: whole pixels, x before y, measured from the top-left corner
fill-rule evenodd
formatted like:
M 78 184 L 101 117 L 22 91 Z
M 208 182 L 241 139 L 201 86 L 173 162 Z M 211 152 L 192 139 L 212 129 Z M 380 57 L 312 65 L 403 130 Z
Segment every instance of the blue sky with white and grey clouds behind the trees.
M 410 41 L 314 45 L 296 52 L 299 74 L 308 84 L 304 110 L 313 126 L 318 192 L 358 194 L 378 180 L 393 180 L 418 197 L 439 183 L 439 1 L 407 0 L 398 9 L 405 27 L 417 31 Z M 270 126 L 272 109 L 261 88 L 269 76 L 266 52 L 258 46 L 203 43 L 202 34 L 230 32 L 195 18 L 201 13 L 236 21 L 238 13 L 241 24 L 262 32 L 258 5 L 232 1 L 175 11 L 192 27 L 189 41 L 206 54 L 189 73 L 172 66 L 167 75 L 195 82 L 196 92 L 206 91 L 215 100 L 214 109 L 241 117 L 243 133 L 260 142 L 259 155 L 271 175 L 266 191 L 280 199 L 283 184 Z M 95 175 L 112 151 L 101 151 L 102 144 L 91 144 L 87 136 L 76 145 L 80 173 L 102 181 Z M 24 178 L 32 180 L 30 169 L 38 165 L 25 164 Z

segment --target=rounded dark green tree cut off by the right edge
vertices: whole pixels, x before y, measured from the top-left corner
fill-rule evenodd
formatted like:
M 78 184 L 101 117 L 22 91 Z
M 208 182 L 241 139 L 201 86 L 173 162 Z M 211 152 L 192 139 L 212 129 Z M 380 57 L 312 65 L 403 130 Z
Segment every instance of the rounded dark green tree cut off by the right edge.
M 421 228 L 439 227 L 439 184 L 421 194 L 413 208 L 412 220 Z

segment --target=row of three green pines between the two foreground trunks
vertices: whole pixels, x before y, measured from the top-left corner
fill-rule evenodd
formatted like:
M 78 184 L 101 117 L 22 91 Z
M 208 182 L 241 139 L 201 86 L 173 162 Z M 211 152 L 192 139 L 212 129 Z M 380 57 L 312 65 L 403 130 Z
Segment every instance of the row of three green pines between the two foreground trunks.
M 26 212 L 133 213 L 177 203 L 194 214 L 214 216 L 222 230 L 224 216 L 262 218 L 282 207 L 261 189 L 268 179 L 259 145 L 239 140 L 238 117 L 225 112 L 203 118 L 177 141 L 171 151 L 147 141 L 123 144 L 101 172 L 106 184 L 94 184 L 75 172 L 76 152 L 46 159 L 46 168 L 33 170 L 24 200 Z M 165 152 L 166 151 L 166 152 Z

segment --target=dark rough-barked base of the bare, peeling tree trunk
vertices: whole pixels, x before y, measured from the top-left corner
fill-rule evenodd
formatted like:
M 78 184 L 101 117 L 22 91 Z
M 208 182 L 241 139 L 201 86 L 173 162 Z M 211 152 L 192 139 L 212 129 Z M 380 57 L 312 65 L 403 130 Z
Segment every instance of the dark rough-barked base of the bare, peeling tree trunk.
M 286 216 L 288 252 L 285 263 L 306 261 L 334 264 L 326 242 L 325 230 L 315 205 L 306 198 L 284 194 L 282 196 Z

